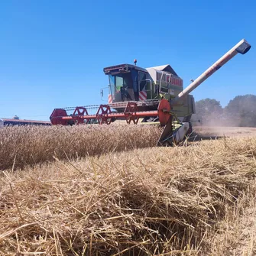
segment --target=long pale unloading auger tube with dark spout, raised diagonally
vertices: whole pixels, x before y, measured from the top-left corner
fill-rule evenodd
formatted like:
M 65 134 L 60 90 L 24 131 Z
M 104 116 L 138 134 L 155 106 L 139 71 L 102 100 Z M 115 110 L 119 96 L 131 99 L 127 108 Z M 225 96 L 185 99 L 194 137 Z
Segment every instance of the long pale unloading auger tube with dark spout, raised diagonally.
M 171 104 L 175 104 L 183 98 L 183 96 L 188 95 L 193 89 L 196 89 L 203 81 L 205 81 L 209 76 L 212 76 L 215 71 L 219 70 L 225 63 L 235 57 L 237 53 L 245 54 L 248 50 L 251 49 L 251 45 L 245 39 L 242 39 L 238 44 L 232 47 L 231 50 L 228 50 L 219 60 L 217 60 L 212 66 L 209 67 L 202 75 L 200 75 L 193 83 L 190 83 L 190 86 L 187 86 L 186 89 L 183 89 L 172 101 Z

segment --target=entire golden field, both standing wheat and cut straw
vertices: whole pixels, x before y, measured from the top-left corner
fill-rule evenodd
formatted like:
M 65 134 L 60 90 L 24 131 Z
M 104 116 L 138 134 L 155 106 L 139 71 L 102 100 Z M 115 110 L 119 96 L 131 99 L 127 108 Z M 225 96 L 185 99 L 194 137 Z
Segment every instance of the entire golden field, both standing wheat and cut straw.
M 1 255 L 255 255 L 256 137 L 0 130 Z

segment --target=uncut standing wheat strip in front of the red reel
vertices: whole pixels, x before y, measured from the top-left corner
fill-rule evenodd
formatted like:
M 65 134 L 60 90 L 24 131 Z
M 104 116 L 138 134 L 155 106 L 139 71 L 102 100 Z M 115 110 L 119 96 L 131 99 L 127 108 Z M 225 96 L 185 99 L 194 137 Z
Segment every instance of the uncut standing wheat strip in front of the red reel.
M 153 147 L 160 129 L 142 125 L 14 126 L 0 129 L 0 170 L 44 161 Z

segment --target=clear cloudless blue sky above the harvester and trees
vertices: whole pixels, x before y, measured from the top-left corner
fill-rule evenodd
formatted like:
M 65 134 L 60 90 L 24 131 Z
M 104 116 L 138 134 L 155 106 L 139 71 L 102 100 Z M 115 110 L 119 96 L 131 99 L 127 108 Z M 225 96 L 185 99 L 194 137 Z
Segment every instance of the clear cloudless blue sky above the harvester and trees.
M 184 86 L 242 38 L 251 50 L 194 92 L 228 104 L 256 94 L 256 1 L 0 2 L 0 117 L 48 120 L 54 108 L 104 103 L 103 67 L 170 63 Z

